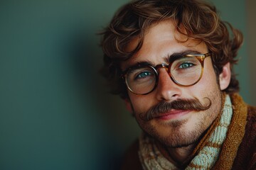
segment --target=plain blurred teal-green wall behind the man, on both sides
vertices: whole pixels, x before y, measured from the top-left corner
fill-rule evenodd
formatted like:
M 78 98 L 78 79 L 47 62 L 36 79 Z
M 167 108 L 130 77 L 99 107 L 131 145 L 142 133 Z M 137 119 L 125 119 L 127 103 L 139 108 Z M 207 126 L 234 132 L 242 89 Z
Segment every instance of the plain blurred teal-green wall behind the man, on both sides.
M 212 0 L 245 35 L 235 67 L 256 105 L 255 1 Z M 116 169 L 140 134 L 98 70 L 97 35 L 127 0 L 0 1 L 0 169 Z

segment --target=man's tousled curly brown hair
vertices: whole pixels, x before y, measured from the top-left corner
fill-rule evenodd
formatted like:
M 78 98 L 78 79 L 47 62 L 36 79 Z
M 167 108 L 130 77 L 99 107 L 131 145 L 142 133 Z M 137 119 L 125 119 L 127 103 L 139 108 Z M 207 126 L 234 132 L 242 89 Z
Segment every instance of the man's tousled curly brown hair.
M 221 21 L 215 6 L 198 0 L 135 0 L 119 8 L 110 25 L 102 31 L 102 74 L 110 83 L 112 93 L 122 98 L 128 97 L 127 87 L 120 79 L 119 63 L 139 51 L 146 30 L 167 19 L 176 21 L 176 30 L 187 38 L 206 43 L 217 77 L 223 71 L 223 66 L 230 62 L 232 77 L 224 91 L 227 94 L 239 91 L 233 64 L 238 62 L 235 57 L 242 45 L 242 33 L 230 23 Z M 139 43 L 128 52 L 127 45 L 134 38 L 138 38 Z

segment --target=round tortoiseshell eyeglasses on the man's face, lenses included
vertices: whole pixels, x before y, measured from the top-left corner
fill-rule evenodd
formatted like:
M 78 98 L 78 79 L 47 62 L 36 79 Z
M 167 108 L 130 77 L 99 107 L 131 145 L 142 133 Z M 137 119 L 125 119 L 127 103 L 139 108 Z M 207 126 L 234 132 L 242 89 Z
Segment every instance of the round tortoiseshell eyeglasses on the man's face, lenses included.
M 133 94 L 145 95 L 156 89 L 159 80 L 159 68 L 165 68 L 171 80 L 179 86 L 193 86 L 203 75 L 203 61 L 210 53 L 178 55 L 169 65 L 137 64 L 122 73 L 127 88 Z

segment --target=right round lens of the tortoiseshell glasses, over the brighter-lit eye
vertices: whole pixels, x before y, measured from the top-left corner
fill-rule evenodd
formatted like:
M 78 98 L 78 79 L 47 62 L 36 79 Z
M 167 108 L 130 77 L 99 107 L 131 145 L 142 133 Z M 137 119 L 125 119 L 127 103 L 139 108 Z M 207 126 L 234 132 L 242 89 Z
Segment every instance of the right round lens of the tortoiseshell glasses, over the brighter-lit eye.
M 201 77 L 201 62 L 196 57 L 181 57 L 171 64 L 171 77 L 184 86 L 189 86 Z

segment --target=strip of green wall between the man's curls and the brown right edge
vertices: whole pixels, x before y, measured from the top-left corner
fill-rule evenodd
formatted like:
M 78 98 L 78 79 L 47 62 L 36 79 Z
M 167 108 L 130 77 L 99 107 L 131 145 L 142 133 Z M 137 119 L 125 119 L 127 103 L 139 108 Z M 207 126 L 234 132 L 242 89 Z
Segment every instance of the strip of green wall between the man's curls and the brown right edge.
M 256 104 L 255 101 L 252 101 L 252 96 L 250 93 L 250 84 L 251 79 L 254 79 L 254 75 L 249 68 L 249 55 L 247 48 L 247 23 L 246 23 L 246 8 L 245 1 L 237 0 L 210 0 L 218 8 L 221 18 L 224 21 L 228 21 L 235 28 L 238 28 L 242 31 L 244 35 L 244 43 L 241 49 L 238 52 L 238 58 L 240 61 L 238 65 L 235 65 L 235 73 L 238 74 L 238 80 L 240 82 L 240 94 L 247 103 Z

